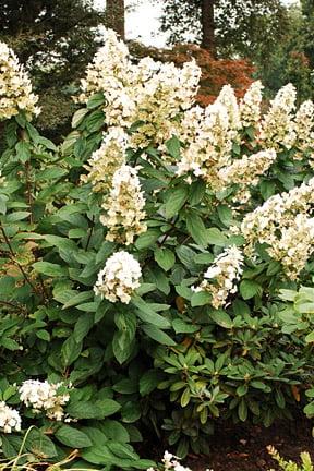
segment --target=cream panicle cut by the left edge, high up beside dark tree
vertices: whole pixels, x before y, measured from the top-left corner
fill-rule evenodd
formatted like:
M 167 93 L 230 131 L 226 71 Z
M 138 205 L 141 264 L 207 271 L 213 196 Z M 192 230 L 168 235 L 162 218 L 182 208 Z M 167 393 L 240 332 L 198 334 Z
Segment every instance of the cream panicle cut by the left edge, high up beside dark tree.
M 0 119 L 10 119 L 20 111 L 38 114 L 38 97 L 19 59 L 5 43 L 0 43 Z

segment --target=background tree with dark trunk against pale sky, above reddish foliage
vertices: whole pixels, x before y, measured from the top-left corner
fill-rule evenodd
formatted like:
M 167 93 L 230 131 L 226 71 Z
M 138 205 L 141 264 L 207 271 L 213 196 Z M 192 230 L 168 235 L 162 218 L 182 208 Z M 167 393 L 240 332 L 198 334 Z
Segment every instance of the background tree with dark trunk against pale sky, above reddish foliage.
M 265 60 L 265 55 L 286 37 L 288 14 L 280 0 L 162 0 L 161 3 L 161 31 L 170 32 L 169 44 L 191 41 L 193 37 L 214 58 Z

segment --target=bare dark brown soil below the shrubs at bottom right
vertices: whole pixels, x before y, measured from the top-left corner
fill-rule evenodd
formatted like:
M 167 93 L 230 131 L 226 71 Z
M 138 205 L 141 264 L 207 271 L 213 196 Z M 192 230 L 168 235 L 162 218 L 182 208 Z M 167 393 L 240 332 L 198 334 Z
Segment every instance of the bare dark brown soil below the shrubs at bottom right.
M 286 461 L 299 466 L 300 454 L 309 451 L 314 463 L 313 419 L 301 412 L 293 420 L 280 420 L 265 428 L 261 425 L 241 423 L 217 427 L 210 437 L 209 456 L 189 456 L 182 460 L 193 471 L 268 471 L 278 470 L 277 461 L 269 456 L 267 446 L 273 445 Z

